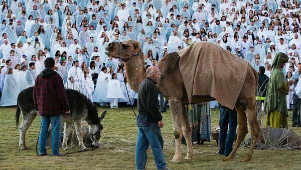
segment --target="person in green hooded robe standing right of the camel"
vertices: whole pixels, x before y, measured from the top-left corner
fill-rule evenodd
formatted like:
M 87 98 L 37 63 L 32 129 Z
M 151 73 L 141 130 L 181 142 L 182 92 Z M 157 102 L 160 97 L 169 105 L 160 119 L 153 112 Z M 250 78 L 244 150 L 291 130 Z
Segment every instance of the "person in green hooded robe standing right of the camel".
M 286 54 L 279 52 L 273 63 L 265 98 L 266 124 L 273 128 L 287 128 L 286 95 L 289 83 L 284 79 L 282 68 L 288 62 Z

